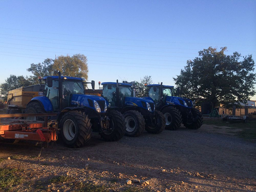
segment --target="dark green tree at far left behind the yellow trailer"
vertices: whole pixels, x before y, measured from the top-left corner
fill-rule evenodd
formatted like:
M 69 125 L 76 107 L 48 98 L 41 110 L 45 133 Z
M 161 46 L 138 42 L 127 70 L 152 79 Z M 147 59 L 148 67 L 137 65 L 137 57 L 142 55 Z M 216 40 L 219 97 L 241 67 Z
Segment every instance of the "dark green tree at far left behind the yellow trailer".
M 8 91 L 29 85 L 30 82 L 24 76 L 10 75 L 5 79 L 5 83 L 0 84 L 0 94 L 3 95 L 3 99 L 6 101 Z

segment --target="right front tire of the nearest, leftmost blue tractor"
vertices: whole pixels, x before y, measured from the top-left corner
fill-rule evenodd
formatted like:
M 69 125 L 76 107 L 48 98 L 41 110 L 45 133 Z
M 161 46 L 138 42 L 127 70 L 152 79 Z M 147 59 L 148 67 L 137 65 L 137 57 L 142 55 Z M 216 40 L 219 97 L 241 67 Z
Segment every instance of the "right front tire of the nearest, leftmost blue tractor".
M 110 126 L 113 129 L 112 132 L 101 132 L 100 135 L 105 141 L 118 141 L 125 134 L 126 123 L 123 115 L 115 110 L 111 110 L 109 113 Z

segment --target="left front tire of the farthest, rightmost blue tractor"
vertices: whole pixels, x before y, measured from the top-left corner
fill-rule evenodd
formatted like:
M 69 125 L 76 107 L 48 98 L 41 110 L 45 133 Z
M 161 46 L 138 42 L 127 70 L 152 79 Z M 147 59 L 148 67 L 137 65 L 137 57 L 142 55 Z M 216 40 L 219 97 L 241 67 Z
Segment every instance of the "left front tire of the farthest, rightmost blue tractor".
M 162 110 L 162 114 L 165 116 L 167 130 L 177 130 L 181 127 L 182 117 L 181 112 L 175 107 L 166 107 Z

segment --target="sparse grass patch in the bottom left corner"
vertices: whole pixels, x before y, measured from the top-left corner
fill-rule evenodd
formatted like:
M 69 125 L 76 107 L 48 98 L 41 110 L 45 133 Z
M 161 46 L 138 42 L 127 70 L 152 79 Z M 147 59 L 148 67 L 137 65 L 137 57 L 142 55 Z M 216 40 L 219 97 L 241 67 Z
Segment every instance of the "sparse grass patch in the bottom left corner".
M 0 168 L 0 189 L 9 189 L 22 183 L 23 177 L 19 176 L 19 169 Z

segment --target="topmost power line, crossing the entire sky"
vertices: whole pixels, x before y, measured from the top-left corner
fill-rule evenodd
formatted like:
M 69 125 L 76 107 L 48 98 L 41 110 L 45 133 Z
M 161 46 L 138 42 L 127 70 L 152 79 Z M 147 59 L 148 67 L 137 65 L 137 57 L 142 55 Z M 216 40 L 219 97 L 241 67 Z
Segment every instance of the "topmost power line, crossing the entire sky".
M 125 41 L 142 41 L 142 42 L 158 42 L 158 43 L 181 43 L 181 44 L 204 44 L 204 45 L 205 44 L 212 44 L 212 45 L 223 44 L 223 43 L 216 44 L 216 43 L 190 43 L 190 42 L 171 42 L 171 41 L 151 41 L 151 40 L 136 40 L 136 39 L 119 39 L 119 38 L 108 38 L 108 37 L 99 37 L 99 36 L 74 35 L 74 34 L 65 34 L 65 33 L 44 32 L 44 31 L 32 31 L 32 30 L 24 30 L 24 29 L 12 29 L 12 28 L 4 28 L 4 27 L 0 27 L 0 29 L 28 31 L 28 32 L 37 32 L 37 33 L 48 33 L 48 34 L 57 34 L 57 35 L 80 36 L 80 37 L 100 38 L 100 39 L 115 39 L 115 40 L 125 40 Z M 242 45 L 242 44 L 225 44 L 225 45 L 256 46 L 256 45 Z

